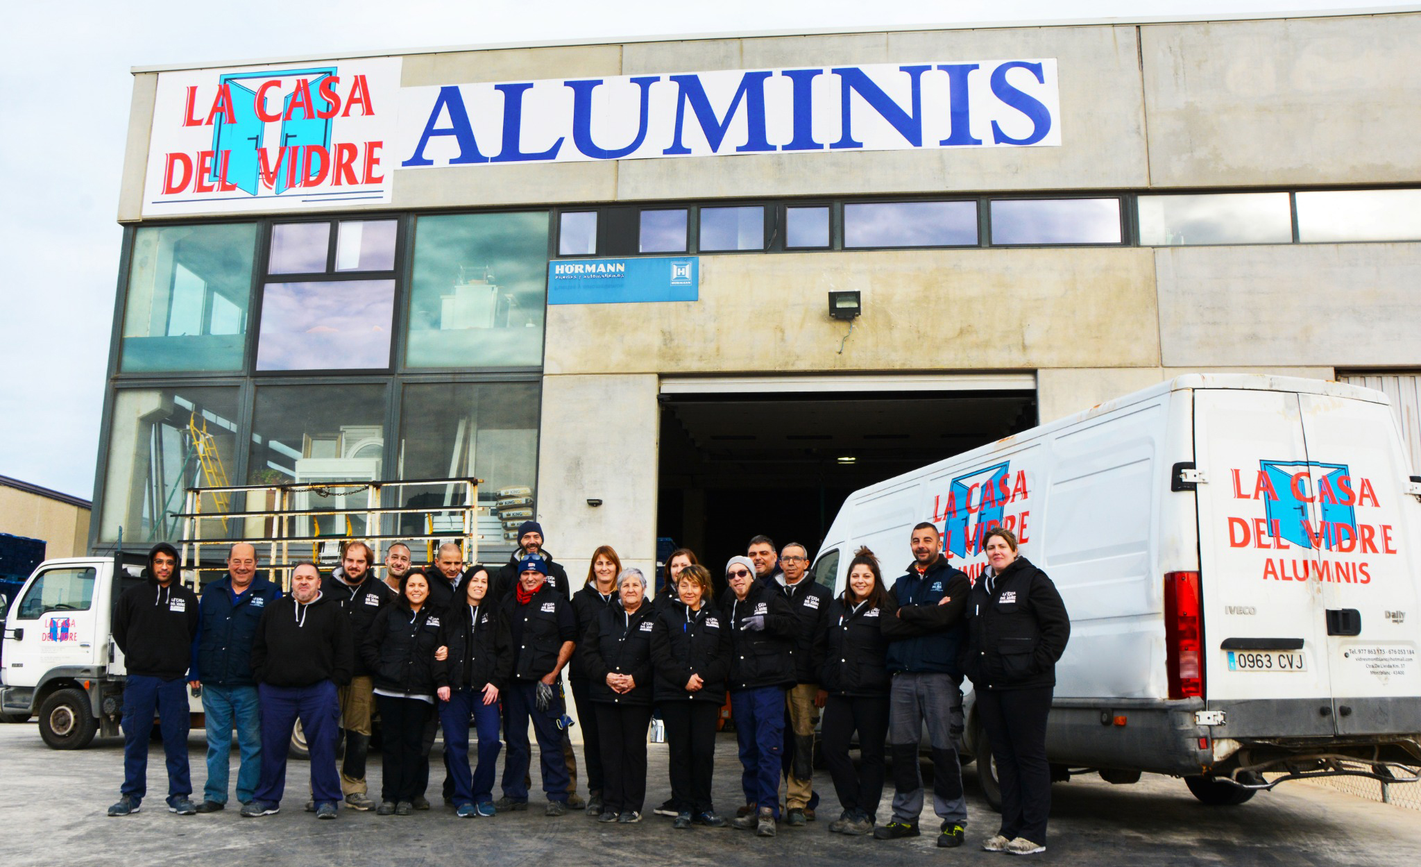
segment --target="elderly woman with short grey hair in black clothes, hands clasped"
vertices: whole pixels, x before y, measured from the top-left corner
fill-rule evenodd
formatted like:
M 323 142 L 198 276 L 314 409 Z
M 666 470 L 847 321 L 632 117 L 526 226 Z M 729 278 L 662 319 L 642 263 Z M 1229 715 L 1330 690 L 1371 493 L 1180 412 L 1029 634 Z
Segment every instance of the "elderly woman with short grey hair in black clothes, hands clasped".
M 651 630 L 639 569 L 617 576 L 618 604 L 587 628 L 578 652 L 591 688 L 603 752 L 603 812 L 598 822 L 641 822 L 647 799 L 647 725 L 651 722 Z

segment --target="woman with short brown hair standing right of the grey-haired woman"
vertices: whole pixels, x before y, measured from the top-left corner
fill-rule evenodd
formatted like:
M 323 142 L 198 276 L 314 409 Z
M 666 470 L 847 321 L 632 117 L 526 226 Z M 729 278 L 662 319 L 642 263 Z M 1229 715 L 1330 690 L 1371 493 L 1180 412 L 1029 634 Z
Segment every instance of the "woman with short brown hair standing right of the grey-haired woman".
M 657 611 L 651 630 L 651 662 L 657 669 L 655 701 L 666 723 L 672 827 L 691 823 L 725 827 L 710 802 L 715 731 L 730 671 L 730 630 L 710 605 L 710 573 L 686 566 L 676 580 L 678 600 Z

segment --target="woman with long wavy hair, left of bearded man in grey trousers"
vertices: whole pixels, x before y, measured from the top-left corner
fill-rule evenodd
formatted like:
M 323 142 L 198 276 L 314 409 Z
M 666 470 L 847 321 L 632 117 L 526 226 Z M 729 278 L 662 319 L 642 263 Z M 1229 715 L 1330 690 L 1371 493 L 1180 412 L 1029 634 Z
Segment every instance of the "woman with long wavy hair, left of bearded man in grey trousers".
M 848 564 L 844 593 L 828 605 L 828 632 L 817 644 L 824 702 L 824 763 L 844 809 L 828 830 L 867 834 L 874 830 L 884 793 L 884 742 L 888 738 L 888 640 L 882 624 L 898 610 L 884 587 L 878 557 L 858 549 Z M 860 766 L 848 755 L 858 732 Z

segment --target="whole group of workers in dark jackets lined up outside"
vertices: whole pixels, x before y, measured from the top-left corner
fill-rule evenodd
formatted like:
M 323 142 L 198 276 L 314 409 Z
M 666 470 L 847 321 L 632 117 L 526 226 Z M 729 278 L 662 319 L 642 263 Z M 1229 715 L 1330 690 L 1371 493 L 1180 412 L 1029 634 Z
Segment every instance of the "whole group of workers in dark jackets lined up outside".
M 114 615 L 128 682 L 125 779 L 109 816 L 141 807 L 155 718 L 168 763 L 168 809 L 226 807 L 236 731 L 236 796 L 249 817 L 279 812 L 300 721 L 311 759 L 307 810 L 317 819 L 335 819 L 342 802 L 378 814 L 428 810 L 429 755 L 441 728 L 442 793 L 458 816 L 526 810 L 531 722 L 547 816 L 585 809 L 598 822 L 635 823 L 657 715 L 668 742 L 671 799 L 655 812 L 674 817 L 675 829 L 729 824 L 774 836 L 780 822 L 801 827 L 816 820 L 820 723 L 841 807 L 830 831 L 880 840 L 921 834 L 926 793 L 919 742 L 926 732 L 932 807 L 941 820 L 936 843 L 956 847 L 968 824 L 956 753 L 966 677 L 1002 793 L 1002 823 L 982 846 L 1043 851 L 1050 812 L 1046 718 L 1070 621 L 1056 587 L 1020 556 L 1009 529 L 985 530 L 980 544 L 988 564 L 973 583 L 948 563 L 938 529 L 921 523 L 902 577 L 890 586 L 874 553 L 860 549 L 837 596 L 810 576 L 803 544 L 776 550 L 766 536 L 752 539 L 746 556 L 732 557 L 720 576 L 691 550 L 676 550 L 659 587 L 603 546 L 574 593 L 543 547 L 543 527 L 530 520 L 519 529 L 517 551 L 497 569 L 466 566 L 452 543 L 433 564 L 415 569 L 409 547 L 396 543 L 381 580 L 371 549 L 351 542 L 328 576 L 313 563 L 296 566 L 287 594 L 257 576 L 253 546 L 237 543 L 227 574 L 206 584 L 200 598 L 178 580 L 176 550 L 158 544 L 146 581 L 122 594 Z M 577 795 L 564 668 L 584 732 L 585 800 Z M 188 688 L 200 689 L 207 736 L 207 780 L 196 804 Z M 728 694 L 745 795 L 732 819 L 716 813 L 710 796 Z M 365 782 L 375 711 L 382 735 L 378 802 Z M 470 732 L 477 745 L 472 762 Z M 857 765 L 850 755 L 855 735 Z M 502 797 L 495 800 L 504 745 Z M 890 749 L 892 807 L 878 824 Z

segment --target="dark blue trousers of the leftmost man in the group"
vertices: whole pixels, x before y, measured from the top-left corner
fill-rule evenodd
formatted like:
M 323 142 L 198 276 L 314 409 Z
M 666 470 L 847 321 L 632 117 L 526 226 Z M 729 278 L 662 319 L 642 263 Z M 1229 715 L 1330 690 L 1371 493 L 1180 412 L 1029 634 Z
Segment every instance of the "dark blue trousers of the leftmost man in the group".
M 148 738 L 153 733 L 153 715 L 163 735 L 168 758 L 168 803 L 192 795 L 188 772 L 188 682 L 163 681 L 141 674 L 128 675 L 124 684 L 124 786 L 122 795 L 142 802 L 148 795 Z

